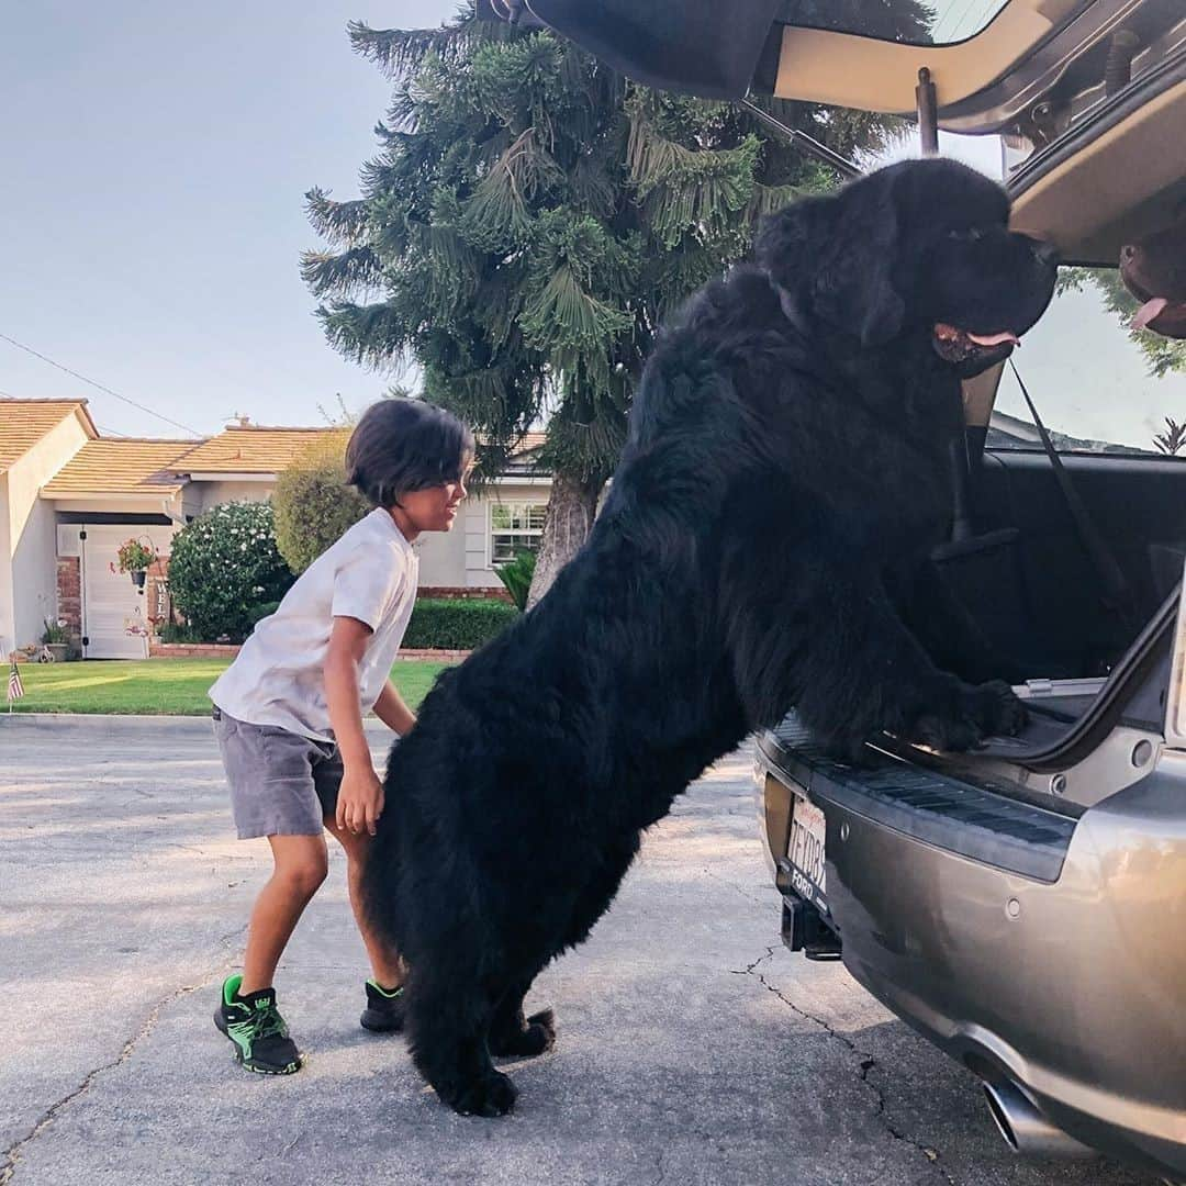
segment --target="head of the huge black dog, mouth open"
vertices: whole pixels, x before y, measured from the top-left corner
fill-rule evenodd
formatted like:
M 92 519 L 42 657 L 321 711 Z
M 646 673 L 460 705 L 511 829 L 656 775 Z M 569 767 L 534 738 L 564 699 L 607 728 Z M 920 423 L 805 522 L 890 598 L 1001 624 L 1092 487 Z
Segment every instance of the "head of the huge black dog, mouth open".
M 1007 357 L 1054 292 L 1054 250 L 1008 229 L 1005 191 L 904 161 L 766 221 L 758 262 L 804 317 L 862 347 L 930 337 L 964 376 Z

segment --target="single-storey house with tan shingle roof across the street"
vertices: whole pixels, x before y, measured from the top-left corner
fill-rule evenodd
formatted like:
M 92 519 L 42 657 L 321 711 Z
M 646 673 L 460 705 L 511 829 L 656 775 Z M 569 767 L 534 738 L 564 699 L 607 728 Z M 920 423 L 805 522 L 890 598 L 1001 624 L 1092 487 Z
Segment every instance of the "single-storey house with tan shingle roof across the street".
M 46 618 L 88 658 L 142 658 L 168 614 L 172 538 L 221 503 L 267 499 L 278 474 L 332 428 L 266 427 L 247 417 L 204 440 L 102 436 L 85 400 L 0 398 L 0 650 L 40 638 Z M 471 497 L 453 531 L 417 542 L 420 595 L 487 597 L 495 565 L 543 530 L 550 477 L 528 434 L 505 472 Z M 121 543 L 161 557 L 144 591 L 117 570 Z

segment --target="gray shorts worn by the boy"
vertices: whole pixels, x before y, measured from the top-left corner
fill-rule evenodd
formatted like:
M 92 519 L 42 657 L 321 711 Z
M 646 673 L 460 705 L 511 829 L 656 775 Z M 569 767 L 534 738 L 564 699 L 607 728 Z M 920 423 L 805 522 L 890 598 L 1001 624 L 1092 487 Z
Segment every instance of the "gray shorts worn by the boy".
M 248 725 L 218 708 L 213 719 L 238 839 L 319 836 L 323 818 L 338 808 L 338 747 L 274 725 Z

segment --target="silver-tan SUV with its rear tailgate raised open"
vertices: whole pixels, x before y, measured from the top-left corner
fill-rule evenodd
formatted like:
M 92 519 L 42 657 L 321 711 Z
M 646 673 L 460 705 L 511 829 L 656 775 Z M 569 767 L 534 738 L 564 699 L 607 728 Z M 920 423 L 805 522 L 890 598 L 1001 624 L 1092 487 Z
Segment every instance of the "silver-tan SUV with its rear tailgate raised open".
M 1028 728 L 855 766 L 789 716 L 763 830 L 785 942 L 978 1075 L 1015 1149 L 1186 1178 L 1186 343 L 1130 332 L 1116 270 L 1186 216 L 1186 2 L 931 0 L 923 36 L 861 0 L 487 2 L 652 85 L 982 136 L 961 153 L 1071 264 L 1016 369 L 965 387 L 936 555 L 1032 674 Z

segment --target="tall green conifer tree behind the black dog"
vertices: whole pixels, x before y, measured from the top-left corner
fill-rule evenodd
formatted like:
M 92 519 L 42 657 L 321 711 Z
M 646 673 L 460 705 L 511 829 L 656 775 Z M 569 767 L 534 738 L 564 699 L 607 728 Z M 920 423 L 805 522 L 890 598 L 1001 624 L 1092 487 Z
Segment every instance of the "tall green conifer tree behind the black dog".
M 362 196 L 307 195 L 329 249 L 302 275 L 329 340 L 375 368 L 419 364 L 425 396 L 479 434 L 485 472 L 546 422 L 534 601 L 588 534 L 659 324 L 745 255 L 760 215 L 837 178 L 739 107 L 648 90 L 472 9 L 350 37 L 394 97 Z M 894 126 L 765 107 L 849 158 Z

